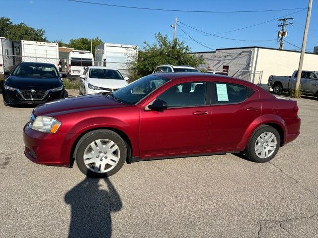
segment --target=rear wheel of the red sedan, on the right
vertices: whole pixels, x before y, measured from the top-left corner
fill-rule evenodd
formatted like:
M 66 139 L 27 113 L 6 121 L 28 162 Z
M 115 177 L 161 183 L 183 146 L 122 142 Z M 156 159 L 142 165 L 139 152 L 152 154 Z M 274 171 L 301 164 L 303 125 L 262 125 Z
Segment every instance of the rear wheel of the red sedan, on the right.
M 280 147 L 278 131 L 269 125 L 261 125 L 250 137 L 245 155 L 250 161 L 264 163 L 275 157 Z

